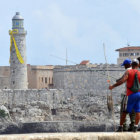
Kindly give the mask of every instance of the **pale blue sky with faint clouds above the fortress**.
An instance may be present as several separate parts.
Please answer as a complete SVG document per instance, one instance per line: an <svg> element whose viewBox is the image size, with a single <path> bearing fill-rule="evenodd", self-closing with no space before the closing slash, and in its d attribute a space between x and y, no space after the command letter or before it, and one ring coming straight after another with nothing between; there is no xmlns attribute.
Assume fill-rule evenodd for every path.
<svg viewBox="0 0 140 140"><path fill-rule="evenodd" d="M0 65L9 65L12 17L27 30L27 64L68 65L82 60L116 64L118 48L140 46L140 0L0 0ZM74 62L74 63L71 63Z"/></svg>

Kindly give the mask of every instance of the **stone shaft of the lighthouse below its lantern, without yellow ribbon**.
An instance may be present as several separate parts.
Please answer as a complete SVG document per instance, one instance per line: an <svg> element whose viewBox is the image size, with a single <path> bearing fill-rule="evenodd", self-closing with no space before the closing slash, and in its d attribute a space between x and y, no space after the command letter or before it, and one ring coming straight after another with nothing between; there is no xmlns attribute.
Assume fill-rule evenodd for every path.
<svg viewBox="0 0 140 140"><path fill-rule="evenodd" d="M14 43L12 42L10 56L10 88L11 89L27 89L27 64L26 64L26 31L20 31L14 34L19 52L24 60L21 64L17 58Z"/></svg>

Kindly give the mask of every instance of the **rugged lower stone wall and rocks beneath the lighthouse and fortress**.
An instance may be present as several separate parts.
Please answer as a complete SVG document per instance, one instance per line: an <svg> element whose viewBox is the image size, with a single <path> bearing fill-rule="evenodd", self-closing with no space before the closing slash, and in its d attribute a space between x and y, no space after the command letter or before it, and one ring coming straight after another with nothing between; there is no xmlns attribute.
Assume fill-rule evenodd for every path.
<svg viewBox="0 0 140 140"><path fill-rule="evenodd" d="M112 93L115 123L107 109L106 96L110 94L107 89L6 89L0 91L0 104L9 110L11 119L18 125L18 129L26 126L27 130L28 126L32 128L30 132L113 131L114 124L119 124L120 116L120 94L117 90ZM24 132L23 129L17 131Z"/></svg>

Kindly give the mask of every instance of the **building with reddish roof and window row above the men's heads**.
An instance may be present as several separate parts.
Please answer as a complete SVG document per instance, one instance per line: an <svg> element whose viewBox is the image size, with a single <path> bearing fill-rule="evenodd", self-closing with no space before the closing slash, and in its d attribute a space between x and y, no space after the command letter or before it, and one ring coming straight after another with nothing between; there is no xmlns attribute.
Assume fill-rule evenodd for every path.
<svg viewBox="0 0 140 140"><path fill-rule="evenodd" d="M117 59L117 64L120 65L126 58L131 60L140 57L140 46L127 46L124 48L117 49L119 52L119 58Z"/></svg>

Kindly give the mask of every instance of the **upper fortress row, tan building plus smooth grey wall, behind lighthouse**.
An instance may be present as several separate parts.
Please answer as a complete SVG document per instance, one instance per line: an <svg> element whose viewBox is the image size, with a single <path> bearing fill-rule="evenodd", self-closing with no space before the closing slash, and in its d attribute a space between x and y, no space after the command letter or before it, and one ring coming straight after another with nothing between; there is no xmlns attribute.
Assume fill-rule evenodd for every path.
<svg viewBox="0 0 140 140"><path fill-rule="evenodd" d="M67 66L35 66L27 65L29 89L94 89L107 81L106 65L85 64ZM124 68L109 65L114 79L122 76ZM106 79L102 79L102 77ZM0 66L0 88L10 88L10 67ZM96 80L97 79L97 80ZM102 80L102 81L99 81ZM104 88L104 85L101 86Z"/></svg>

